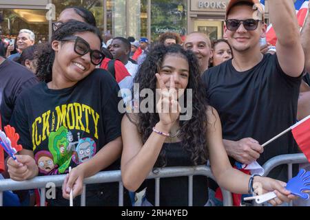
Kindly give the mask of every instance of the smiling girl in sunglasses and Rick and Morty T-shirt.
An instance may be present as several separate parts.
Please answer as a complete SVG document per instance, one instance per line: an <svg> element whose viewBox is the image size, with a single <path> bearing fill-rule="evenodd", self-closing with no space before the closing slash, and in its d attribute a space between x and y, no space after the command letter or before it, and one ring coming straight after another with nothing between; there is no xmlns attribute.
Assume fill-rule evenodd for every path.
<svg viewBox="0 0 310 220"><path fill-rule="evenodd" d="M8 161L11 179L61 175L72 167L51 206L68 206L70 190L73 197L81 194L85 177L119 169L121 98L112 76L95 69L104 58L100 49L101 35L94 26L80 21L61 25L39 56L43 83L21 95L12 116L24 149L18 162ZM117 206L118 184L88 185L86 205Z"/></svg>

